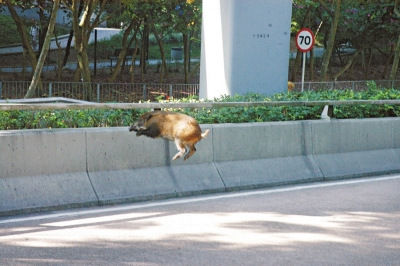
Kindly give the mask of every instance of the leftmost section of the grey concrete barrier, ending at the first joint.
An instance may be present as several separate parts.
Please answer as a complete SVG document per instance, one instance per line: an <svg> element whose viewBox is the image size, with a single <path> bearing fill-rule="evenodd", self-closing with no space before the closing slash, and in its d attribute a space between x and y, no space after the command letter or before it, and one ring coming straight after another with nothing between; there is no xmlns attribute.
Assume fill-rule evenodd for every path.
<svg viewBox="0 0 400 266"><path fill-rule="evenodd" d="M0 213L97 204L83 130L0 131Z"/></svg>

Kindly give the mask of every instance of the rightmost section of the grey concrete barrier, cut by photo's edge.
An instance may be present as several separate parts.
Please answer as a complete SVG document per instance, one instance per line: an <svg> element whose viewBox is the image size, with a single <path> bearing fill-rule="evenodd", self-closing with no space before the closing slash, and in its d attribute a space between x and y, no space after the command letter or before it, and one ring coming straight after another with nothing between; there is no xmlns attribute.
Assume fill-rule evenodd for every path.
<svg viewBox="0 0 400 266"><path fill-rule="evenodd" d="M313 156L325 179L400 170L400 119L311 122Z"/></svg>

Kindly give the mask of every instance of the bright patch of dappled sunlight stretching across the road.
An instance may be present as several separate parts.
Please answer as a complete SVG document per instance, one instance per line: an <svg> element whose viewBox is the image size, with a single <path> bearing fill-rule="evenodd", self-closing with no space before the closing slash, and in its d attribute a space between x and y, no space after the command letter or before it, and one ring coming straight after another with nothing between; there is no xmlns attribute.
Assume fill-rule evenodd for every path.
<svg viewBox="0 0 400 266"><path fill-rule="evenodd" d="M345 212L293 215L275 212L162 213L129 212L101 217L42 222L37 226L0 231L0 246L76 247L102 242L131 243L191 241L220 248L290 247L299 243L357 244L352 234L379 232L376 237L399 240L400 235L379 220L400 220L400 213Z"/></svg>

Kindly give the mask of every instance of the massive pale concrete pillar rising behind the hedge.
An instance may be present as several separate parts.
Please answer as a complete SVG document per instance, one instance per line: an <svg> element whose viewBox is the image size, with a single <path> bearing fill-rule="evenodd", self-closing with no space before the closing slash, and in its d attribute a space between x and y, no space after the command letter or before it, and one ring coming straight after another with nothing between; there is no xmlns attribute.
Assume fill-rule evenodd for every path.
<svg viewBox="0 0 400 266"><path fill-rule="evenodd" d="M200 98L286 91L290 0L203 0Z"/></svg>

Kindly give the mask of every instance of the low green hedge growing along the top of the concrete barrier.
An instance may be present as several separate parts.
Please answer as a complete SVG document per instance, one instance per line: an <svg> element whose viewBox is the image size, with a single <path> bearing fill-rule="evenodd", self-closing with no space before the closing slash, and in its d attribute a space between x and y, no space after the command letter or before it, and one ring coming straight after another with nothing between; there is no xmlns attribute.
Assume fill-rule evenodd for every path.
<svg viewBox="0 0 400 266"><path fill-rule="evenodd" d="M352 90L313 91L304 93L280 93L271 97L248 94L245 96L222 97L219 102L241 101L296 101L296 100L383 100L400 99L396 89L377 88L370 84L366 91ZM180 99L179 102L198 101L194 98ZM200 123L242 123L263 121L289 121L319 119L322 106L316 107L235 107L217 109L174 109L195 117ZM0 129L32 128L79 128L128 126L140 114L149 110L57 110L57 111L0 111ZM338 106L335 118L368 118L400 116L400 106L354 105Z"/></svg>

